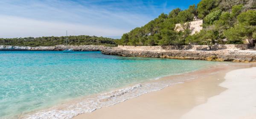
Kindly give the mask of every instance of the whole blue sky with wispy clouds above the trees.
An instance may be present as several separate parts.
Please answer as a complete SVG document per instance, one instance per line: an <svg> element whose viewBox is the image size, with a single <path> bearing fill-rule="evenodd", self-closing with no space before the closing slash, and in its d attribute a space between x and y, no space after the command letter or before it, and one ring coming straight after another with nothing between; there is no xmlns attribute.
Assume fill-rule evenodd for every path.
<svg viewBox="0 0 256 119"><path fill-rule="evenodd" d="M95 35L120 38L161 13L200 0L0 0L0 38Z"/></svg>

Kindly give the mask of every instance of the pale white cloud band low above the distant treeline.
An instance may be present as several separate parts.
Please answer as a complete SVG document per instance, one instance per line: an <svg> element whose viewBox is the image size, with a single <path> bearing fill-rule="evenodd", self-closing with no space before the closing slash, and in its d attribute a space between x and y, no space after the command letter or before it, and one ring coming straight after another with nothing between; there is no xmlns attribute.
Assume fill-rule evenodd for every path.
<svg viewBox="0 0 256 119"><path fill-rule="evenodd" d="M96 35L96 36L120 36L122 29L87 26L61 22L49 22L0 15L0 37L41 37L41 36L64 36L68 35Z"/></svg>

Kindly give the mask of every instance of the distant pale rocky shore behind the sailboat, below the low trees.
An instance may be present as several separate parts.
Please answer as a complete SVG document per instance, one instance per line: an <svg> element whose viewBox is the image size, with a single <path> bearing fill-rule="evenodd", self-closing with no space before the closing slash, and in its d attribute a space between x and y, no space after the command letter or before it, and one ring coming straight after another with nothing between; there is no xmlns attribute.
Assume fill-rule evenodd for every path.
<svg viewBox="0 0 256 119"><path fill-rule="evenodd" d="M81 46L64 46L64 45L57 45L57 46L0 46L0 50L52 50L52 51L61 51L63 49L74 49L74 51L102 51L103 49L109 49L108 46L102 45L81 45Z"/></svg>

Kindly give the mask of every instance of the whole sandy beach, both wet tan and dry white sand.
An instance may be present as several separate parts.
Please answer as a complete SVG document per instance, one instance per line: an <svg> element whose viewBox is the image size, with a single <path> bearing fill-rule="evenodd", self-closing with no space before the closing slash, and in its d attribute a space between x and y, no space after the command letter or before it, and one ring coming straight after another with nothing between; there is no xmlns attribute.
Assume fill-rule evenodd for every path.
<svg viewBox="0 0 256 119"><path fill-rule="evenodd" d="M256 119L256 68L252 67L256 65L195 72L191 74L198 75L195 80L73 119Z"/></svg>

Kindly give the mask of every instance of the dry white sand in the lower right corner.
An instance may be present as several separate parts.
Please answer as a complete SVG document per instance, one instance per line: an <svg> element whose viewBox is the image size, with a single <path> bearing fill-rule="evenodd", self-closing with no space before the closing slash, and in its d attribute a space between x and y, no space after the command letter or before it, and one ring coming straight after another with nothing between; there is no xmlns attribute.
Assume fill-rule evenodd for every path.
<svg viewBox="0 0 256 119"><path fill-rule="evenodd" d="M226 74L220 95L194 107L182 119L256 119L256 67Z"/></svg>

